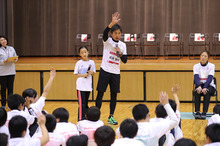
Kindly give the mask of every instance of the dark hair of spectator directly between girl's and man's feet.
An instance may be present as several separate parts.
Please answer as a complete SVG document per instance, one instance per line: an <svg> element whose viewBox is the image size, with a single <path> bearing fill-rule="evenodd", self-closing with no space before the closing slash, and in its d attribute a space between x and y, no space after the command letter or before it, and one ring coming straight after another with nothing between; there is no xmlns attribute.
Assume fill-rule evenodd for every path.
<svg viewBox="0 0 220 146"><path fill-rule="evenodd" d="M96 106L91 106L86 112L86 117L87 120L96 122L100 119L100 114L101 112L99 108Z"/></svg>

